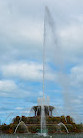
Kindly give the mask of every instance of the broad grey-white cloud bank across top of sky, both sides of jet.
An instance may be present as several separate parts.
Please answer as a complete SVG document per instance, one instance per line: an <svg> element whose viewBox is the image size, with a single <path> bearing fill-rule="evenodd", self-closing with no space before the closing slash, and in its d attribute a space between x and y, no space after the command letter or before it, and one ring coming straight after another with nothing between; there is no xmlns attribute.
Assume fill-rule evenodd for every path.
<svg viewBox="0 0 83 138"><path fill-rule="evenodd" d="M1 61L7 59L11 60L11 57L12 59L18 58L18 56L25 57L25 55L26 57L32 57L33 55L34 58L39 58L41 56L41 45L43 42L43 6L45 3L47 3L52 11L56 23L55 31L59 32L58 41L60 42L60 49L58 51L56 51L56 48L54 49L52 44L50 44L51 48L48 54L50 55L50 58L53 54L60 55L56 56L56 58L57 60L61 60L61 64L61 62L63 62L62 60L76 62L79 60L79 57L77 58L77 56L80 54L83 55L83 18L82 11L80 11L79 8L82 3L81 0L79 3L75 0L67 0L65 2L61 0L53 2L48 0L46 2L42 2L41 0L36 0L35 2L33 0L30 2L26 0L18 0L11 2L8 0L4 2L1 1L0 3L0 33L1 47L3 47L0 47ZM71 12L72 10L70 10L71 8L72 10L74 8L73 13ZM4 53L4 55L2 53Z"/></svg>

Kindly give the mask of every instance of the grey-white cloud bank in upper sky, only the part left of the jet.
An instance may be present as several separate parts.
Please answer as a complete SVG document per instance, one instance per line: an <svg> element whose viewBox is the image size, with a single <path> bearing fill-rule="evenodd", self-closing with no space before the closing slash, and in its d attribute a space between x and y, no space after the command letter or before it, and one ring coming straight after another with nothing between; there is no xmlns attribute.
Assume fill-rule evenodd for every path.
<svg viewBox="0 0 83 138"><path fill-rule="evenodd" d="M33 10L28 14L28 10L31 10L29 5L32 3L26 0L0 1L0 62L2 63L10 62L11 59L17 60L19 57L39 59L42 54L43 22L37 17L33 18ZM33 7L37 9L36 6Z"/></svg>

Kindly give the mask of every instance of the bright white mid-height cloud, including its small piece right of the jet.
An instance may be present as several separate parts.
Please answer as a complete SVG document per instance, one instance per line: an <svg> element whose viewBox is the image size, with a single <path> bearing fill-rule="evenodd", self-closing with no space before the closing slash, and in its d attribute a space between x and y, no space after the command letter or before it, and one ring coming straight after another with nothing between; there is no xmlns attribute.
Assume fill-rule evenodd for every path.
<svg viewBox="0 0 83 138"><path fill-rule="evenodd" d="M16 77L29 81L42 81L43 77L42 64L34 62L18 62L2 66L2 74L4 77ZM49 70L45 74L45 79L54 80L54 75Z"/></svg>

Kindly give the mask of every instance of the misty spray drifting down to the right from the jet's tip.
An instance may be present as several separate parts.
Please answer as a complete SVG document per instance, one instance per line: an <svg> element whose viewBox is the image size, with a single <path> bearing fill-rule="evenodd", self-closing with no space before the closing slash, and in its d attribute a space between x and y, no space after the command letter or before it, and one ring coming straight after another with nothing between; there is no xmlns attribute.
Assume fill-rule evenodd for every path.
<svg viewBox="0 0 83 138"><path fill-rule="evenodd" d="M48 30L47 30L47 25L49 26L48 29L51 29L51 38L52 43L49 44L49 39L48 39ZM74 114L74 108L72 106L71 108L71 82L69 75L65 73L65 59L62 51L62 47L60 43L58 42L58 35L57 31L55 31L55 23L53 21L53 18L51 16L51 13L48 9L48 7L45 8L45 17L44 17L44 48L43 48L43 66L45 66L45 61L46 61L46 53L48 52L48 47L49 47L49 53L48 56L52 58L52 61L54 60L54 63L56 67L58 68L57 71L57 83L62 87L62 93L63 93L63 98L64 98L64 111L67 109L67 112L70 112L71 114ZM47 47L46 47L47 46ZM43 68L43 75L45 74L45 67ZM43 77L44 80L45 76ZM44 92L44 91L43 91ZM69 98L70 97L70 98Z"/></svg>

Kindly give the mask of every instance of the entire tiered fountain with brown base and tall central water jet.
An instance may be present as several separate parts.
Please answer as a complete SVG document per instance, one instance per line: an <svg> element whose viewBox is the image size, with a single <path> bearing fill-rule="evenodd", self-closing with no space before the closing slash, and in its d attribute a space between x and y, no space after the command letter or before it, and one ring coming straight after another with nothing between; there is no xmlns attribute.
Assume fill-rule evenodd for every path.
<svg viewBox="0 0 83 138"><path fill-rule="evenodd" d="M55 107L50 105L49 97L45 97L45 45L46 45L46 16L49 16L52 24L52 17L49 9L45 7L44 17L44 41L43 41L43 96L38 98L38 105L33 106L31 110L34 112L32 117L16 116L9 125L0 126L3 133L36 133L38 135L47 136L48 133L79 133L83 132L83 126L75 124L73 119L68 116L53 116ZM53 29L52 29L53 30Z"/></svg>

